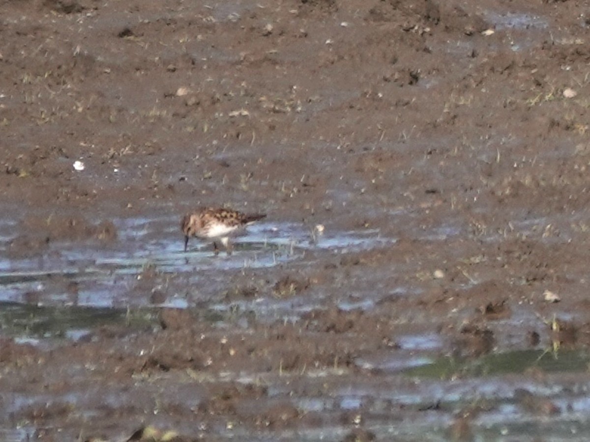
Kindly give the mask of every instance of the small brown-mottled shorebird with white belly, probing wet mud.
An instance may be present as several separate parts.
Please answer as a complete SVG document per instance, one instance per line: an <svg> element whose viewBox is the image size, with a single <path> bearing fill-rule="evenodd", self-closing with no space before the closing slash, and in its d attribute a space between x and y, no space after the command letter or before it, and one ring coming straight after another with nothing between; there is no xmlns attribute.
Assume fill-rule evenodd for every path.
<svg viewBox="0 0 590 442"><path fill-rule="evenodd" d="M188 239L191 236L201 239L212 239L215 255L219 253L217 239L225 246L227 254L231 255L230 235L237 230L252 224L266 215L257 213L246 215L231 209L199 209L182 217L181 229L185 235L185 252L188 248Z"/></svg>

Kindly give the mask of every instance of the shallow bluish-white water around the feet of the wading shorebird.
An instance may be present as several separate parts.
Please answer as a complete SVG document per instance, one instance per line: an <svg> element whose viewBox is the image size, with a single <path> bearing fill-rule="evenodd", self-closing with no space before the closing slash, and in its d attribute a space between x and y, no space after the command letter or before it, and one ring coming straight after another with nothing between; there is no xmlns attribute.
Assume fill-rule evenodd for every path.
<svg viewBox="0 0 590 442"><path fill-rule="evenodd" d="M301 260L308 250L344 253L394 242L381 238L377 230L319 233L302 225L258 223L234 239L231 256L223 252L214 256L211 243L196 239L183 252L175 221L169 217L119 219L112 245L56 242L35 258L0 257L0 302L27 303L28 296L37 298L38 305L149 305L145 296L130 296L129 289L150 268L159 276L185 275L191 280L207 274L209 289L214 290L218 287L211 281L222 281L224 272ZM5 244L12 239L8 233L4 238ZM76 293L68 293L68 286L74 285ZM187 306L182 299L158 305Z"/></svg>

